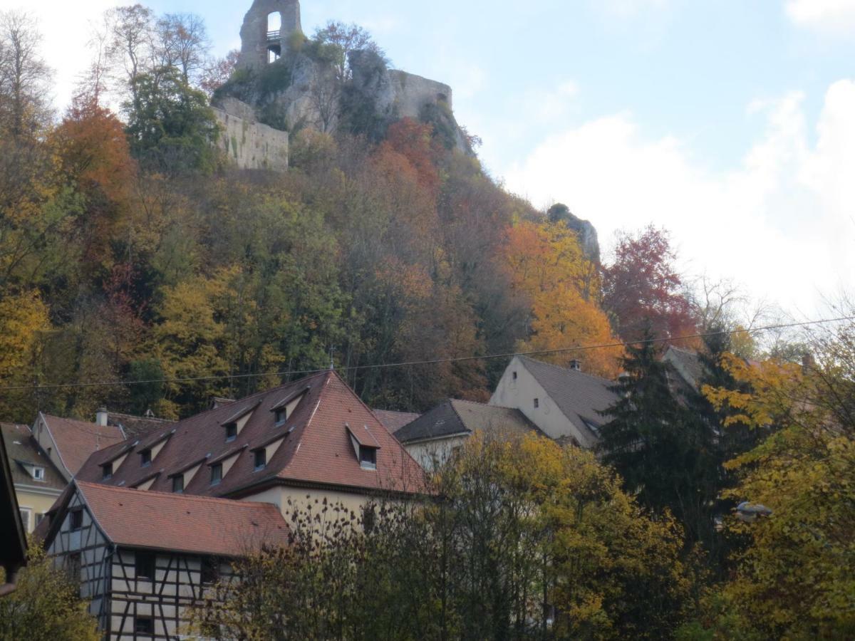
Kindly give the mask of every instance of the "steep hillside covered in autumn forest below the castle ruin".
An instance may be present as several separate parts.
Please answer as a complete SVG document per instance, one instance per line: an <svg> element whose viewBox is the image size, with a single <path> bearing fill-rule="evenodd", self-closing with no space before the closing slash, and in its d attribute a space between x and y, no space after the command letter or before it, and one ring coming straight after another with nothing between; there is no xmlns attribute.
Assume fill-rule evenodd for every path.
<svg viewBox="0 0 855 641"><path fill-rule="evenodd" d="M177 417L330 362L368 403L423 410L486 399L504 362L353 368L610 344L642 318L666 337L698 324L665 232L622 238L604 268L566 208L504 191L430 114L294 127L289 172L232 168L208 101L234 56L209 59L196 16L137 5L104 25L56 114L38 25L3 17L4 417L102 403ZM380 51L334 24L301 46L334 67L354 34ZM610 376L621 354L582 357Z"/></svg>

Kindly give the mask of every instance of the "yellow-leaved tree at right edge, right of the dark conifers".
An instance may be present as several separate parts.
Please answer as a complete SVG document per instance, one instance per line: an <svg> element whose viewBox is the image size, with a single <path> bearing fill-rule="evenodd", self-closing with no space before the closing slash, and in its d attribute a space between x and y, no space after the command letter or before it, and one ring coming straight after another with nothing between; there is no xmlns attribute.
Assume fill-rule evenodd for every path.
<svg viewBox="0 0 855 641"><path fill-rule="evenodd" d="M748 389L706 390L716 407L730 409L726 429L777 429L728 463L740 482L726 496L761 503L771 515L728 519L749 543L697 628L754 638L846 638L855 630L853 344L846 321L814 333L816 360L804 367L731 356L725 367Z"/></svg>

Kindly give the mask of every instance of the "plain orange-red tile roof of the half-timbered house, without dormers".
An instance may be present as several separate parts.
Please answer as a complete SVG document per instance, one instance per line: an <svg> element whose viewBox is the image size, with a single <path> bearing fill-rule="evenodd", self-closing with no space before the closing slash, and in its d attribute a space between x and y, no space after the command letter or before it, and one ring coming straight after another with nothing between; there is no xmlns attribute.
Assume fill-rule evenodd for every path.
<svg viewBox="0 0 855 641"><path fill-rule="evenodd" d="M288 526L269 503L128 490L77 482L91 514L116 545L242 556L288 544Z"/></svg>

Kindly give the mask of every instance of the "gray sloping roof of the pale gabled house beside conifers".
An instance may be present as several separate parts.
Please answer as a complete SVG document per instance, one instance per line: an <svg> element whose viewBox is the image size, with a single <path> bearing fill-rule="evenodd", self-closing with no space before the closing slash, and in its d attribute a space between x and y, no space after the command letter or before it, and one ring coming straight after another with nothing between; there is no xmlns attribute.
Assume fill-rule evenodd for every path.
<svg viewBox="0 0 855 641"><path fill-rule="evenodd" d="M608 422L600 412L609 409L618 400L616 393L610 389L615 383L575 369L535 361L527 356L519 356L519 359L561 413L587 438L588 442L581 445L593 445L598 440L599 427Z"/></svg>

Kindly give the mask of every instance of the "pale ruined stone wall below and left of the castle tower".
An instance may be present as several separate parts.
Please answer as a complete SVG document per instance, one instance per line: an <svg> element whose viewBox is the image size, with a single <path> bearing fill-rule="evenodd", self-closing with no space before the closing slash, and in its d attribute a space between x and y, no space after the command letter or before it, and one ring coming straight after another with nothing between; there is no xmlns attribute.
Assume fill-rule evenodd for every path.
<svg viewBox="0 0 855 641"><path fill-rule="evenodd" d="M224 98L214 109L221 132L217 143L241 169L288 168L288 132L256 121L254 110L235 98Z"/></svg>

